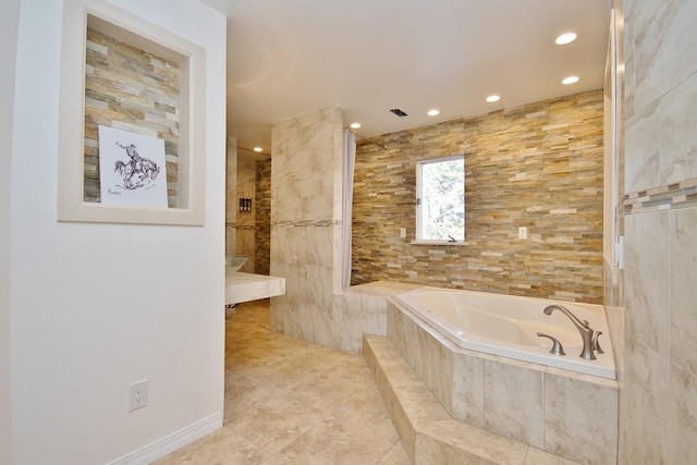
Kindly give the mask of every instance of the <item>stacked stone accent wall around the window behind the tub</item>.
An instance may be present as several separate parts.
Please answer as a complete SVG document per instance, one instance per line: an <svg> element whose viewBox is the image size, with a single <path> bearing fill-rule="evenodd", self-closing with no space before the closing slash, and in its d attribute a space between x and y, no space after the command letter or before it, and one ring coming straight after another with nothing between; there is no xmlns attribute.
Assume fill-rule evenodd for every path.
<svg viewBox="0 0 697 465"><path fill-rule="evenodd" d="M601 303L602 105L594 90L376 137L387 150L360 143L352 284ZM465 155L465 245L412 245L416 162L453 154Z"/></svg>

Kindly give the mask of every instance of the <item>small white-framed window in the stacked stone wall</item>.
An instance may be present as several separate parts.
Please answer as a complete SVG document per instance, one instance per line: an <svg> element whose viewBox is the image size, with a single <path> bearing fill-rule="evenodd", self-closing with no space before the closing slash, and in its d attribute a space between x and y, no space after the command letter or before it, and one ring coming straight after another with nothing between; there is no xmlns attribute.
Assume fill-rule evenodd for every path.
<svg viewBox="0 0 697 465"><path fill-rule="evenodd" d="M416 243L465 240L465 157L416 164Z"/></svg>

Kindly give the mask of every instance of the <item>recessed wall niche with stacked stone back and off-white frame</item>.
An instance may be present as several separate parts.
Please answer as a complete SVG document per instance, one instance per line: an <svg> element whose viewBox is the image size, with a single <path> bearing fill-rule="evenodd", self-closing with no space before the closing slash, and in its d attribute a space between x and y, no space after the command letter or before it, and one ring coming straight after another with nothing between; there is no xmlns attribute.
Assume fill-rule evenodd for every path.
<svg viewBox="0 0 697 465"><path fill-rule="evenodd" d="M96 0L64 2L62 46L58 220L204 224L204 49ZM100 178L115 168L100 168L100 151L107 161L108 147L125 150L119 154L127 155L125 164L140 180L148 172L134 160L152 160L138 158L142 154L134 158L129 140L117 142L120 148L114 149L113 140L102 139L100 147L99 131L125 131L119 134L163 147L157 170L149 172L152 179L162 174L161 204L105 201ZM126 181L125 171L122 175L123 184L135 179Z"/></svg>

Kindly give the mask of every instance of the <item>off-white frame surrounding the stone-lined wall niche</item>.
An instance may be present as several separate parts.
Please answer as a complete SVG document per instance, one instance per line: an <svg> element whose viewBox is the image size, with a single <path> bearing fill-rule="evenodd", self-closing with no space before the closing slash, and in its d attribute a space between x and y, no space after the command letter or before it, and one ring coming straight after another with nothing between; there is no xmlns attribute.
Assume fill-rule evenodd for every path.
<svg viewBox="0 0 697 465"><path fill-rule="evenodd" d="M205 222L205 49L100 0L63 2L58 221L203 225ZM86 199L87 29L175 63L179 69L174 206L108 205ZM157 76L156 76L157 77ZM145 126L147 122L143 122ZM133 124L137 129L138 122Z"/></svg>

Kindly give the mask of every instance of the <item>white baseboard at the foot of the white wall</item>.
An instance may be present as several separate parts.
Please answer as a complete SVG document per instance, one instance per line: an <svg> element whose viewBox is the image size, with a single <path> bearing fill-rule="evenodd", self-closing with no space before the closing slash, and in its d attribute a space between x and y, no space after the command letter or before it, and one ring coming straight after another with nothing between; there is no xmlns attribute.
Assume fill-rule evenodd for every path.
<svg viewBox="0 0 697 465"><path fill-rule="evenodd" d="M213 414L107 465L147 465L222 428L222 415Z"/></svg>

